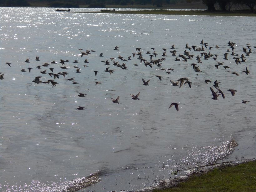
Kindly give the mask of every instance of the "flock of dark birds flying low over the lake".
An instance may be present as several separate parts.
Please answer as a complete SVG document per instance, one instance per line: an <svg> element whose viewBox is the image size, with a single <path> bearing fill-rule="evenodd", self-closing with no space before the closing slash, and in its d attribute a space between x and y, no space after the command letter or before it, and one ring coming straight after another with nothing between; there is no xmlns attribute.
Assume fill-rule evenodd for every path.
<svg viewBox="0 0 256 192"><path fill-rule="evenodd" d="M200 57L199 55L196 56L196 61L197 61L197 63L202 63L201 60L200 60L201 58L203 58L204 60L208 60L208 59L212 58L212 59L214 59L214 61L216 61L218 55L217 55L217 54L214 54L214 55L213 55L213 54L210 53L211 49L214 48L214 47L208 46L208 43L203 42L203 40L201 41L200 44L201 44L202 46L194 46L194 45L193 45L193 46L191 46L191 47L189 47L188 44L186 44L186 46L185 46L185 51L184 51L184 53L183 53L184 55L179 54L178 56L176 56L175 45L172 45L171 48L170 48L170 49L171 49L170 53L172 53L172 54L171 54L172 56L176 57L176 58L175 58L175 61L179 62L179 61L181 61L181 59L183 59L183 60L182 60L183 62L187 62L188 60L192 60L192 58L195 57L194 55L191 55L189 52L187 52L187 49L189 49L190 51L192 51L192 49L193 49L194 52L199 52L199 55L201 55L201 57ZM208 52L208 53L206 52L206 50L204 50L204 48L205 48L205 49L208 49L207 46L208 46L208 48L209 48L209 52ZM249 56L250 56L250 53L252 53L252 52L251 52L251 46L250 46L249 44L247 44L247 47L243 47L243 52L244 52L244 53L243 53L241 56L239 56L239 54L235 54L235 53L234 53L234 49L235 49L235 47L234 47L234 46L235 46L235 43L234 43L234 42L230 42L230 41L229 41L228 46L229 46L230 48L228 48L227 51L224 53L224 58L223 58L223 59L224 59L224 60L228 60L228 55L229 55L228 52L231 52L230 49L232 49L232 52L231 52L230 55L231 55L231 56L234 56L233 59L235 60L235 63L236 63L237 65L238 65L238 64L241 64L241 62L245 63L245 62L246 62L245 56L249 57ZM116 47L114 48L114 50L119 51L118 48L119 48L119 47L116 46ZM215 48L218 49L219 47L216 45ZM254 48L256 48L256 46L255 46ZM155 48L152 47L151 49L154 51L152 54L151 54L151 51L148 51L148 52L145 53L145 54L149 55L149 57L150 57L149 61L150 61L150 62L148 62L147 59L145 59L145 58L142 57L143 55L142 55L142 52L141 52L141 48L139 48L139 47L136 47L136 52L137 52L137 51L138 51L138 52L137 52L137 53L132 53L132 55L133 55L133 57L135 57L135 55L138 55L138 56L139 56L138 59L140 60L140 63L143 63L146 67L147 67L147 66L150 66L150 68L153 68L152 65L156 65L157 67L162 67L162 66L161 66L161 64L162 64L161 62L164 62L164 61L165 61L167 49L163 48L164 52L163 52L162 58L159 58L159 59L156 59L158 53L155 52ZM91 54L91 52L95 52L95 51L93 51L93 50L91 50L91 51L86 50L85 52L83 52L83 49L79 49L79 51L81 52L81 57L83 57L84 55L89 56L89 54ZM104 56L103 56L103 53L100 53L99 57L104 57ZM124 57L121 57L120 55L118 55L117 58L118 58L118 60L121 60L122 64L119 64L119 61L116 62L116 61L115 61L116 58L114 58L114 57L111 57L110 60L111 60L111 62L113 61L113 66L120 67L120 68L123 69L123 70L128 70L127 68L128 68L129 66L126 66L126 63L124 63L124 62L127 62L128 60L131 60L131 57L132 57L132 56L128 57L127 60L126 60ZM240 59L241 59L241 60L240 60ZM109 64L110 61L108 61L108 60L109 60L109 59L107 59L106 61L102 61L102 62L103 62L105 65L108 66L108 65L110 65L110 64ZM40 61L38 56L36 57L36 61ZM25 62L26 62L26 63L30 63L30 62L29 62L29 59L27 59ZM67 70L67 69L68 69L68 68L65 66L66 62L69 62L69 60L62 60L62 59L60 60L60 63L62 64L62 66L60 66L61 69L64 69L64 70ZM73 63L79 63L79 62L78 62L78 60L75 60ZM88 62L87 59L85 59L84 63L89 63L89 62ZM223 63L224 63L224 62L217 62L217 64L215 65L216 69L219 69L220 66L223 66L225 69L229 68L229 66L224 66ZM12 64L9 63L9 62L6 62L6 64L7 64L8 66L11 66L11 65L12 65ZM51 64L57 64L57 62L52 61ZM42 66L40 66L40 65L37 66L36 69L42 69L41 67L48 67L49 65L50 65L49 63L44 63ZM199 66L197 66L197 65L198 65L198 64L196 64L196 63L192 63L192 64L191 64L191 66L193 67L194 71L200 73L201 71L200 71L200 69L199 69ZM138 65L137 65L137 64L134 64L134 66L138 66ZM79 68L78 66L73 66L73 67L77 68L77 69L76 69L76 73L81 73L81 72L80 72L80 68ZM83 65L83 67L88 67L88 66L87 66L87 65ZM109 68L110 68L110 67L107 67L104 72L110 73L110 75L111 75L113 72L115 72L115 70L109 69ZM27 69L28 69L28 71L29 71L29 73L30 73L33 68L28 67ZM58 73L53 73L53 70L55 70L55 69L52 68L52 67L49 67L49 69L50 69L50 71L51 71L51 72L49 72L49 73L46 72L47 70L40 71L40 73L41 73L41 74L48 74L48 75L50 75L51 77L53 77L54 79L56 79L56 77L59 78L59 76L61 76L61 75L64 76L64 77L65 77L66 75L68 75L68 73L67 73L66 71L58 72ZM167 69L161 68L161 70L166 71L167 74L170 74L170 73L171 73L170 71L174 71L174 69L172 69L172 68L167 68ZM22 69L21 71L22 71L22 72L27 72L25 69ZM93 71L93 72L95 73L95 76L97 76L97 73L99 73L99 71ZM228 72L230 72L230 73L232 73L232 74L234 74L234 75L239 76L239 74L238 74L237 72L234 72L234 71L228 71ZM250 71L248 70L247 67L246 67L245 71L242 71L242 72L244 72L246 75L248 75L248 74L250 73ZM40 84L40 83L49 84L49 83L51 83L52 86L56 86L56 85L58 84L55 80L52 80L52 79L49 79L49 80L47 80L47 81L41 81L41 80L40 80L41 77L42 77L42 76L37 76L37 77L35 77L35 80L33 80L32 82L37 83L37 84ZM159 75L158 75L158 76L156 76L156 77L158 77L160 81L162 80L162 79L161 79L162 76L159 76ZM72 81L73 84L78 84L78 82L76 82L76 81L74 80L74 78L75 78L75 77L68 78L67 81ZM4 79L4 73L0 72L0 80L2 80L2 79ZM150 80L151 80L151 79L149 79L148 81L145 81L144 79L142 79L143 85L149 86L149 81L150 81ZM174 81L171 81L171 80L170 80L170 82L172 83L172 86L179 86L179 87L181 87L183 84L188 84L189 87L191 88L192 82L190 82L190 81L188 81L188 80L189 80L189 79L188 79L187 77L183 77L183 78L178 79L177 82L174 82ZM205 82L206 84L208 84L208 83L210 83L211 81L207 79L207 80L205 80L204 82ZM218 99L218 96L220 96L220 95L222 95L223 99L225 98L223 91L221 91L220 88L219 88L219 83L221 83L221 82L217 82L217 80L216 80L216 81L214 82L214 85L213 85L213 87L215 87L215 88L217 89L217 91L214 91L213 88L210 87L210 91L212 92L212 96L213 96L212 99L213 99L213 100L219 100L219 99ZM102 84L102 83L99 82L99 81L96 81L96 84L95 84L95 85L97 85L97 84ZM234 90L234 89L229 89L228 91L231 92L232 96L235 95L236 90ZM85 94L85 93L79 93L78 96L79 96L79 97L85 97L85 95L87 95L87 94ZM133 100L139 100L139 98L138 98L139 95L140 95L140 92L139 92L136 96L134 96L133 94L130 94L130 96L132 97ZM118 104L119 104L119 102L118 102L119 96L118 96L116 99L113 99L113 98L111 98L111 99L112 99L112 102L113 102L113 103L118 103ZM244 104L247 104L247 102L250 102L250 101L244 101L244 100L242 100L242 103L244 103ZM176 110L179 111L179 105L180 105L179 103L173 102L173 103L171 103L169 109L170 109L172 106L175 106ZM84 110L84 109L86 109L86 108L85 108L85 107L82 107L82 106L79 106L79 107L77 108L77 110Z"/></svg>

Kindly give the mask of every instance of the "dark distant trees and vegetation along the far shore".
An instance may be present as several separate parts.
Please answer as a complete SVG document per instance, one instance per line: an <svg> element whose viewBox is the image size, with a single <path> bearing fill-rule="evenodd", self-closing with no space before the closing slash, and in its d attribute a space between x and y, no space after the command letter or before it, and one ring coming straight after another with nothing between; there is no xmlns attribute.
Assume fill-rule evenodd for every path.
<svg viewBox="0 0 256 192"><path fill-rule="evenodd" d="M37 1L38 3L45 3L48 7L93 7L93 8L105 8L106 5L115 6L136 6L136 5L151 5L156 7L170 7L177 3L182 4L185 2L202 2L208 7L208 11L215 11L216 5L219 10L229 11L246 10L249 9L252 12L256 7L256 0L0 0L0 6L14 7L14 6L30 6L30 3Z"/></svg>

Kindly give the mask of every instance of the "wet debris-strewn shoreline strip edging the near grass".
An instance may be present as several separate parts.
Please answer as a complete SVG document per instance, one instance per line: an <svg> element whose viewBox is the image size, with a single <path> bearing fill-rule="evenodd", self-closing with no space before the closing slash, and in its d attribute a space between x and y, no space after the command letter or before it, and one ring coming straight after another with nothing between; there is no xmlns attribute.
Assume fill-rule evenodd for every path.
<svg viewBox="0 0 256 192"><path fill-rule="evenodd" d="M153 186L153 187L143 189L140 191L155 192L155 191L165 191L168 189L177 188L178 185L180 185L181 183L187 182L193 176L200 177L202 175L207 175L214 169L224 169L227 167L235 167L237 165L242 165L242 164L246 164L249 162L256 162L256 160L255 159L246 159L246 160L238 160L238 161L213 163L213 164L194 167L194 168L188 169L188 171L187 171L188 173L185 175L182 175L182 176L176 177L176 178L170 177L170 179L168 179L168 180L161 181L157 186ZM177 171L182 171L182 170L177 170ZM172 174L175 175L175 172Z"/></svg>

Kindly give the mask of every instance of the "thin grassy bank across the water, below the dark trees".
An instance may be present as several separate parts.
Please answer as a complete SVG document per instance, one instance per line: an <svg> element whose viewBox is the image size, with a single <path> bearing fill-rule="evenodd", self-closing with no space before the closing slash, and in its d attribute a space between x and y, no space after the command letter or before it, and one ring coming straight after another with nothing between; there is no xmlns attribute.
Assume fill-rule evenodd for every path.
<svg viewBox="0 0 256 192"><path fill-rule="evenodd" d="M106 12L86 12L86 13L112 13L112 14L154 14L154 15L208 15L208 16L250 16L256 14L249 10L244 11L168 11L166 9L142 10L142 11L106 11Z"/></svg>

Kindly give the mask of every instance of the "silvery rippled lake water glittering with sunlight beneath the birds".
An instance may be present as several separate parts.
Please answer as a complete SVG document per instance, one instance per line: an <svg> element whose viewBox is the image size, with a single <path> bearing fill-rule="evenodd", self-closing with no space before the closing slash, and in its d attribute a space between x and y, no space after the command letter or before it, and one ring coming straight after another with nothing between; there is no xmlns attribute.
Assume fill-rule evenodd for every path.
<svg viewBox="0 0 256 192"><path fill-rule="evenodd" d="M85 186L81 191L132 191L185 173L172 175L177 169L255 158L256 17L3 7L0 12L0 72L4 73L0 80L0 191L60 192ZM169 52L175 44L176 55L184 54L186 43L201 47L202 39L213 47L211 54L218 54L216 61L201 58L202 63L197 63L194 57L176 62ZM229 41L236 43L234 52L239 56L242 47L251 45L245 63L236 65L231 52L228 60L223 59ZM116 46L119 51L114 50ZM147 61L150 56L145 53L153 53L151 47L158 53L156 59L163 58L162 48L166 48L162 67L140 64L138 55L132 56L138 53L136 47ZM96 52L81 57L79 48ZM208 47L204 49L209 52ZM189 52L200 57L202 53ZM132 56L125 62L128 70L110 62L115 72L104 72L108 66L101 61L114 57L122 64L118 55ZM35 61L36 56L40 61ZM30 63L25 62L28 58ZM60 59L70 61L65 63L66 70L60 68ZM85 59L89 63L83 63ZM53 60L58 63L51 64ZM216 69L217 61L230 69ZM43 67L46 62L50 65ZM202 72L195 72L191 63ZM36 69L38 65L42 69ZM73 66L79 66L81 73ZM27 67L33 68L31 73ZM40 73L51 72L49 67L53 73L68 75L56 78L57 86L34 84L36 76L42 76L42 81L53 79ZM174 69L170 75L160 70L169 67ZM249 75L242 72L246 67ZM97 76L93 71L99 71ZM72 77L79 84L67 81ZM191 88L171 86L170 80L182 77L189 78ZM143 85L142 78L151 79L149 86ZM212 82L206 84L207 79ZM225 99L211 99L209 86L215 80L221 82ZM102 84L95 86L96 81ZM228 89L237 92L232 96ZM131 100L130 94L138 92L140 100ZM79 93L87 96L78 97ZM111 98L118 96L119 104L112 103ZM251 102L245 105L242 99ZM178 112L174 106L168 109L172 102L180 104ZM76 110L78 106L86 109Z"/></svg>

